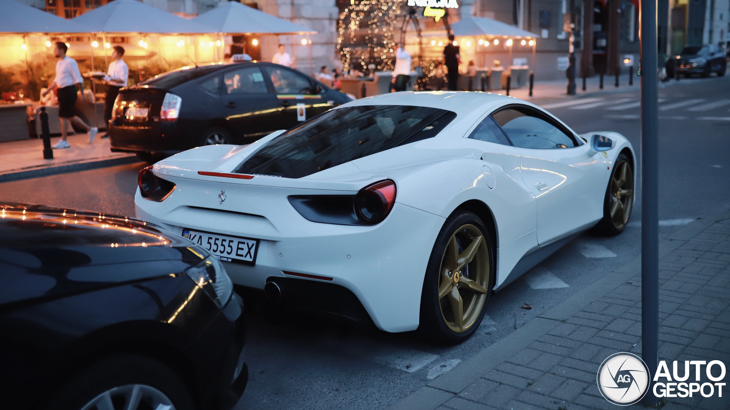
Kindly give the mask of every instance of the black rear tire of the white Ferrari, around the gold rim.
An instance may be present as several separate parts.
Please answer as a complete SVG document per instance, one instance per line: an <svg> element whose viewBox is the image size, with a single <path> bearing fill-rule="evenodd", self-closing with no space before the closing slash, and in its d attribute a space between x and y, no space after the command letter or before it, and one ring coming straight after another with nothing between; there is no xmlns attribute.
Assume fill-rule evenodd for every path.
<svg viewBox="0 0 730 410"><path fill-rule="evenodd" d="M470 324L465 324L465 330L461 332L456 332L452 330L452 328L450 328L449 324L447 324L447 319L445 317L445 314L447 314L447 312L444 312L444 308L442 307L442 299L439 299L439 282L443 280L441 278L441 269L442 263L445 261L445 258L447 258L447 256L445 255L445 252L447 251L447 246L452 236L461 234L459 231L461 231L461 228L464 228L465 225L471 226L480 231L484 239L484 243L480 245L480 252L485 253L483 254L483 256L480 256L480 258L482 258L481 262L479 260L476 261L476 263L478 264L473 269L473 272L475 273L472 276L469 276L469 266L471 266L472 263L475 263L475 260L472 260L471 263L467 263L464 266L464 269L459 271L459 273L462 273L464 271L466 272L464 276L460 276L460 278L464 279L472 277L473 279L477 280L477 276L480 274L479 272L483 272L483 269L486 269L486 271L483 272L483 275L485 275L485 279L483 279L483 282L485 282L485 286L483 287L486 292L479 293L478 295L477 293L472 294L473 298L476 298L477 296L483 298L483 304L481 305L480 311L477 312L478 304L475 304L478 303L477 299L472 299L472 302L469 302L472 304L472 306L474 306L473 309L470 311L472 312L472 317L474 319ZM464 243L464 247L468 247L470 243L471 242ZM459 246L461 247L461 244ZM481 248L482 246L485 246L485 248ZM484 256L488 258L486 263L483 261ZM466 341L466 339L469 339L469 337L475 333L477 328L479 328L479 325L484 317L484 313L486 312L486 308L489 302L489 296L491 295L492 288L494 287L494 272L495 266L492 252L492 239L489 236L487 228L476 214L468 211L457 210L456 212L451 214L450 217L447 218L446 222L441 228L441 231L439 232L439 235L437 236L434 248L433 250L431 250L429 263L426 266L426 276L423 279L423 290L420 299L420 324L418 325L418 331L427 338L442 344L458 344ZM454 273L453 276L456 276L456 273ZM482 277L484 278L484 276ZM457 277L455 282L458 282L459 280L459 277ZM462 293L461 283L458 283L458 285L460 286L458 288L458 292L460 293L460 300L461 295L465 295L466 298L469 298L468 295ZM454 286L456 287L456 285ZM469 290L469 288L464 287L464 292L466 290ZM469 290L469 292L471 292L471 290ZM467 314L467 319L469 319L469 314ZM453 323L451 325L453 325ZM468 325L468 328L466 328L466 325Z"/></svg>

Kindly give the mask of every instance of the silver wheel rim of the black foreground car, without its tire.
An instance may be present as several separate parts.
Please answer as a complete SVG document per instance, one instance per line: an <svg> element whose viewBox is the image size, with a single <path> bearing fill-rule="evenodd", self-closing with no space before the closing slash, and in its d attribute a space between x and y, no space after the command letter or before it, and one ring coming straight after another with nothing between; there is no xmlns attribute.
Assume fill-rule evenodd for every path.
<svg viewBox="0 0 730 410"><path fill-rule="evenodd" d="M128 410L174 410L175 406L164 392L145 384L127 384L114 387L96 396L81 410L115 410L115 403L124 403Z"/></svg>

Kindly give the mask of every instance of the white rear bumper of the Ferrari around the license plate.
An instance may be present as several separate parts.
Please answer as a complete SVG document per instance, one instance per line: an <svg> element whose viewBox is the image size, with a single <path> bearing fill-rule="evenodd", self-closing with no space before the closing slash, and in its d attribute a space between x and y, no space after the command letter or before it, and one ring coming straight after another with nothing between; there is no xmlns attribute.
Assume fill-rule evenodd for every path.
<svg viewBox="0 0 730 410"><path fill-rule="evenodd" d="M223 187L233 198L232 187ZM221 186L212 187L210 194L218 195L220 190ZM198 193L185 198L188 204L183 205L175 195L183 193L154 202L142 198L138 190L137 217L178 235L183 228L192 228L261 239L255 266L223 262L237 285L263 289L271 278L296 277L285 271L325 276L331 279L304 280L347 288L381 330L418 328L423 275L444 218L396 203L378 225L330 225L304 219L288 201L266 204L268 210L261 217L193 209L190 206L210 198ZM248 195L253 199L253 190ZM255 199L268 202L268 198Z"/></svg>

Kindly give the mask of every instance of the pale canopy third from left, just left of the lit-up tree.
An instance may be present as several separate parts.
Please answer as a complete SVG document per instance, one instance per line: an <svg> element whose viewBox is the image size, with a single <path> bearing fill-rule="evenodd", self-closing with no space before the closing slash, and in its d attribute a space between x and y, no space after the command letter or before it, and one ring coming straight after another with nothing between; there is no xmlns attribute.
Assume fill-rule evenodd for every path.
<svg viewBox="0 0 730 410"><path fill-rule="evenodd" d="M119 1L119 0L117 0ZM131 0L134 1L134 0ZM217 33L230 34L314 34L311 28L282 20L238 1L223 1L220 6L193 20Z"/></svg>

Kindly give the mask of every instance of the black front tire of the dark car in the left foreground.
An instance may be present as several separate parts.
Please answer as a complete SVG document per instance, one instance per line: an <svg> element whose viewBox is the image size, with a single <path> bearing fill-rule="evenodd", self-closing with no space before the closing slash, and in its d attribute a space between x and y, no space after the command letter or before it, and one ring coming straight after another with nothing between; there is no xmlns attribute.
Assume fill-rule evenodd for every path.
<svg viewBox="0 0 730 410"><path fill-rule="evenodd" d="M99 398L99 395L110 390L112 401L123 401L124 398L118 390L131 385L151 387L163 393L172 402L175 410L196 409L188 386L180 376L150 357L134 354L107 357L89 365L59 388L44 407L55 410L84 409ZM149 406L152 400L149 395L142 395L138 409L154 409L155 406ZM87 408L96 409L93 406Z"/></svg>

